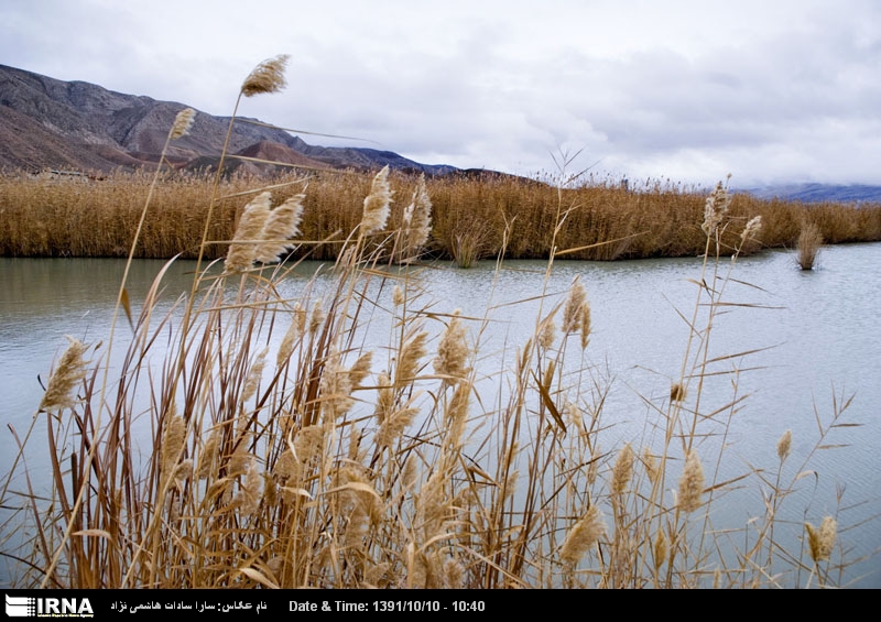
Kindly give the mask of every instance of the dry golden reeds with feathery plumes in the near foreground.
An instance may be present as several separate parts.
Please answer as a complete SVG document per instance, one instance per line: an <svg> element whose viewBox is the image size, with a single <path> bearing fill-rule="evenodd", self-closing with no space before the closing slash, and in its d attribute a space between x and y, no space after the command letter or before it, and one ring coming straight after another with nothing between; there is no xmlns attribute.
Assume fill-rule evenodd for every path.
<svg viewBox="0 0 881 622"><path fill-rule="evenodd" d="M558 296L540 283L533 332L510 345L499 369L482 369L492 294L480 317L434 312L409 260L452 230L454 215L437 209L444 188L460 198L486 186L426 185L432 194L388 170L366 188L356 178L337 178L351 188L333 210L309 208L320 178L229 199L226 241L209 232L200 242L219 261L194 275L181 314L154 315L159 274L130 338L72 340L33 429L13 434L22 450L40 446L52 479L43 490L18 462L4 482L0 501L14 510L6 542L20 545L4 546L18 561L14 587L839 585L850 560L837 517L808 515L786 537L779 515L844 424L846 403L818 415L817 437L800 440L807 449L796 454L785 433L769 443L766 466L718 474L744 399L728 363L749 353L710 356L710 332L736 306L726 286L764 214L737 210L721 184L690 220L679 212L705 259L694 308L682 313L690 336L670 395L645 397L651 434L619 443L605 411L609 384L588 362L586 285L576 280ZM537 212L521 199L515 211L522 195L508 182L482 184L494 183L503 188L491 196L511 203L496 206L508 221L486 252L502 258ZM217 193L217 206L232 194ZM590 212L585 196L559 193L546 206L546 275L555 258L591 250L577 237L566 245L573 216ZM143 231L155 207L142 204ZM335 219L323 231L339 233L316 243L324 233L306 233L313 219ZM295 260L278 260L301 243L333 249L333 284L285 298L279 285ZM124 284L129 310L123 293ZM388 326L381 346L378 324ZM111 369L117 342L122 362ZM730 400L701 402L718 375L730 379ZM784 470L790 461L800 468ZM744 524L719 525L715 503L746 485L764 503Z"/></svg>

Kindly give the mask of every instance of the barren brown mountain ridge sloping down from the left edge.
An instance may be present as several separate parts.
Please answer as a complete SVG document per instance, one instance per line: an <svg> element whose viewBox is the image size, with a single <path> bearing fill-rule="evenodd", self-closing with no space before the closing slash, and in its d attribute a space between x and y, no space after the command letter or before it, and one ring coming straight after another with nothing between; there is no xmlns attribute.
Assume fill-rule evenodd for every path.
<svg viewBox="0 0 881 622"><path fill-rule="evenodd" d="M63 81L0 65L0 171L44 168L108 173L155 167L168 129L184 103L107 90L85 81ZM197 111L188 135L174 141L167 159L182 168L216 166L229 117ZM228 148L229 168L265 173L272 160L313 168L391 168L440 175L448 165L421 164L391 151L309 145L298 137L237 118Z"/></svg>

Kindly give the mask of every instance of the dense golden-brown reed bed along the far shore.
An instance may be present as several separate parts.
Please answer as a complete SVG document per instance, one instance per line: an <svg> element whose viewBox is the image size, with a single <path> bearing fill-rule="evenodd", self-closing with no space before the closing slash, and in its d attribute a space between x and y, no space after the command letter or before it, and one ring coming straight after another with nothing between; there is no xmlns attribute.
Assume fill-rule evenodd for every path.
<svg viewBox="0 0 881 622"><path fill-rule="evenodd" d="M376 172L296 172L259 179L244 173L185 173L165 170L153 189L152 217L144 222L135 257L168 259L198 255L213 195L216 204L209 240L232 237L241 209L240 193L282 184L282 200L298 192L296 179L309 175L303 223L308 240L330 240L309 249L314 259L333 260L342 236L359 221L358 197L363 197ZM101 181L77 177L44 179L25 174L0 176L0 255L6 257L126 257L143 197L153 173L117 173ZM412 193L417 176L392 171L389 183L396 196ZM215 193L215 184L219 183ZM689 188L646 179L624 189L612 179L587 177L578 187L562 190L572 209L557 230L556 205L561 192L553 178L543 182L504 175L450 174L427 177L434 222L426 250L438 259L467 265L504 250L507 259L548 259L550 241L566 249L566 259L616 260L694 257L703 252L700 219L709 189ZM400 222L405 206L392 205ZM737 194L731 217L741 226L760 215L763 228L741 253L769 248L796 248L803 222L815 225L826 243L881 240L881 205L803 204L760 199ZM724 244L737 247L737 236L726 232ZM222 244L202 249L206 258L222 257ZM300 249L305 252L305 248Z"/></svg>

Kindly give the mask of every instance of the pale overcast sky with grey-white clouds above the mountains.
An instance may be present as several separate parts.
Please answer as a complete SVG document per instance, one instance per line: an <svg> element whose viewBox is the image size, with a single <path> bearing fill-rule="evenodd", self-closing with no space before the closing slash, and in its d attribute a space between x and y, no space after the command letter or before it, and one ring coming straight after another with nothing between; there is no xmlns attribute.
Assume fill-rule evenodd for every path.
<svg viewBox="0 0 881 622"><path fill-rule="evenodd" d="M0 64L424 164L881 185L878 0L0 0Z"/></svg>

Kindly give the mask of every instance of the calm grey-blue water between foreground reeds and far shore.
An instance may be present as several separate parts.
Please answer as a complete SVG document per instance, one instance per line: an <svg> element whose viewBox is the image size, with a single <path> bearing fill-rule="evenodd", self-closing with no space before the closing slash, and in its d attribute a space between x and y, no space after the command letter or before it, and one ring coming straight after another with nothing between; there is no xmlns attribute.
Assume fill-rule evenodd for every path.
<svg viewBox="0 0 881 622"><path fill-rule="evenodd" d="M849 446L812 456L805 468L816 477L803 479L792 500L801 512L792 528L800 533L804 521L817 525L824 515L835 513L836 496L844 490L839 541L851 558L870 557L848 570L851 585L873 588L881 587L881 555L875 554L881 550L877 519L881 481L875 476L881 466L877 312L881 287L873 276L879 261L879 244L825 248L817 269L809 272L798 270L790 252L740 259L732 273L736 281L728 282L724 294L726 302L737 305L716 318L710 339L709 356L726 357L716 369L728 373L711 380L704 405L711 408L713 403L721 406L730 400L731 372L738 370L738 394L747 397L729 428L730 451L744 469L775 468L775 444L792 429L793 458L784 469L792 478L801 468L800 459L817 444L818 428L831 423L834 404L852 396L837 423L859 427L835 427L823 444ZM163 263L133 264L129 293L135 313ZM9 471L14 455L7 426L19 435L26 430L43 394L40 381L45 382L66 347L65 336L93 343L106 338L123 268L119 260L0 258L0 417L7 424L0 430L0 472ZM163 281L162 310L189 291L194 268L193 262L172 265ZM281 294L302 295L317 268L304 264L284 281ZM423 273L426 294L421 304L437 314L459 309L464 316L488 318L479 351L486 353L481 364L491 373L499 365L513 364L516 348L535 331L540 305L542 313L550 310L563 299L573 279L579 277L592 319L590 343L579 364L601 370L611 382L603 417L620 439L639 446L656 441L651 433L656 415L646 404L662 402L682 369L700 259L558 261L550 275L546 268L545 262L532 261L505 262L500 272L490 261L470 270L438 265ZM727 268L724 261L721 270ZM327 282L319 277L315 285L320 288ZM548 295L539 299L542 291ZM390 298L391 287L378 296ZM697 313L701 326L706 308ZM121 339L128 327L124 317L119 321L117 338ZM374 321L371 332L380 335L381 341L385 337L382 342L388 343L390 327L380 316ZM477 320L469 321L472 336L479 326ZM570 348L577 349L574 342ZM741 352L751 353L730 357ZM492 382L491 378L486 382ZM41 473L46 474L43 468L29 461L37 481ZM750 490L722 500L719 511L742 515L746 522L760 504L759 492Z"/></svg>

